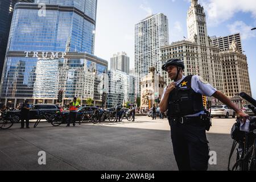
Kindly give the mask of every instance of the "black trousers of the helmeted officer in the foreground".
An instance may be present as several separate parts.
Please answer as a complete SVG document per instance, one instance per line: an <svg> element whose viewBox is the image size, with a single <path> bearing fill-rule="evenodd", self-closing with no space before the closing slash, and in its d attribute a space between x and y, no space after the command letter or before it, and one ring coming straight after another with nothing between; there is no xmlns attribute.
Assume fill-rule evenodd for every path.
<svg viewBox="0 0 256 182"><path fill-rule="evenodd" d="M170 122L175 160L180 171L207 171L209 160L205 126L200 122L189 124Z"/></svg>

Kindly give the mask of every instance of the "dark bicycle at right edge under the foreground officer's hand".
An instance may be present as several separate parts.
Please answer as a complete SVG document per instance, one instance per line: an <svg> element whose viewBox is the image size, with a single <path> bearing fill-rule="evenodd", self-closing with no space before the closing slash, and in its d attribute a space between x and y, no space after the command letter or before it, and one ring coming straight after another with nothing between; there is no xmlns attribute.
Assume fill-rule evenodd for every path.
<svg viewBox="0 0 256 182"><path fill-rule="evenodd" d="M240 96L251 104L249 108L256 114L256 101L246 93ZM229 155L228 170L232 171L256 171L256 117L250 117L249 131L240 130L241 121L237 119L231 132L234 139L232 149ZM238 146L238 147L237 147ZM230 169L230 162L234 151L236 150L236 163Z"/></svg>

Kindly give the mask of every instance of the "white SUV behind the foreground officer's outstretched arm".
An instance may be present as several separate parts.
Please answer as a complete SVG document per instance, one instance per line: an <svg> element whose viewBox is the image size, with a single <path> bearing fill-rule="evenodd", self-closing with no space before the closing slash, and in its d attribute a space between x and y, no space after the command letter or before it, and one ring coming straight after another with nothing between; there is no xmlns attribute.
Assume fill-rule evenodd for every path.
<svg viewBox="0 0 256 182"><path fill-rule="evenodd" d="M211 117L225 117L225 118L229 118L230 116L232 116L233 118L236 117L236 112L232 109L229 109L228 106L226 105L215 105L211 107L212 109L212 113L211 113Z"/></svg>

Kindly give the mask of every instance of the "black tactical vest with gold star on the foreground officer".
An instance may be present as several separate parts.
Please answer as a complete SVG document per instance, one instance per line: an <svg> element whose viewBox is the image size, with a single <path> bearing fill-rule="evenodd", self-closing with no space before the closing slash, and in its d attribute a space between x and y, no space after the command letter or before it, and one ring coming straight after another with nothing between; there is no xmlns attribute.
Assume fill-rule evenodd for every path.
<svg viewBox="0 0 256 182"><path fill-rule="evenodd" d="M204 110L203 96L191 88L192 76L187 76L172 90L168 98L168 116L182 117Z"/></svg>

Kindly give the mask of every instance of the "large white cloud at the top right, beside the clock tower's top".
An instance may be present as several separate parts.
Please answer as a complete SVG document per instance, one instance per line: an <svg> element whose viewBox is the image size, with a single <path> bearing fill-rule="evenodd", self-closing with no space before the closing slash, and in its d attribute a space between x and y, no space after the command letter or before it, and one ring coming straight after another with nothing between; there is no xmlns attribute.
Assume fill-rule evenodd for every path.
<svg viewBox="0 0 256 182"><path fill-rule="evenodd" d="M210 26L217 26L238 12L251 13L256 19L255 0L201 0L199 3L204 6L208 14Z"/></svg>

